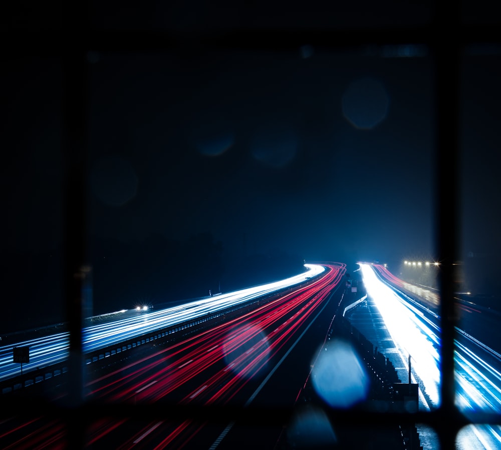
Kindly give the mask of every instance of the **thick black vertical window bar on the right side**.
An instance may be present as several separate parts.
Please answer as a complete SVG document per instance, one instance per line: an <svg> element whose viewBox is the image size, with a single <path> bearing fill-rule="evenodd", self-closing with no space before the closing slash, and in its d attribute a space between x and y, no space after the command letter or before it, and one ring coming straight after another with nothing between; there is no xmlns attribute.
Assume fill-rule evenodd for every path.
<svg viewBox="0 0 501 450"><path fill-rule="evenodd" d="M435 98L436 98L436 224L441 317L441 417L437 429L442 450L453 450L459 421L455 409L454 335L457 313L454 292L458 251L458 108L459 108L459 9L457 3L436 4Z"/></svg>

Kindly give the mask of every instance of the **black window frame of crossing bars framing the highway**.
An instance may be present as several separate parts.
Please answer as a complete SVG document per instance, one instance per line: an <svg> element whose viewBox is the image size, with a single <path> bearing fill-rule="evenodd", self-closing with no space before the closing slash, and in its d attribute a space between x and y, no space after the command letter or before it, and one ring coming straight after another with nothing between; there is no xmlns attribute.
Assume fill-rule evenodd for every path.
<svg viewBox="0 0 501 450"><path fill-rule="evenodd" d="M226 406L176 406L175 409L156 410L146 405L96 405L83 397L82 349L82 287L85 266L86 235L86 149L87 149L87 99L89 51L148 52L170 50L183 45L193 45L192 36L173 36L168 31L111 31L93 30L88 16L78 2L66 7L67 26L55 32L32 36L30 51L45 52L51 48L59 53L60 38L66 40L60 52L64 72L63 142L64 142L64 294L66 315L70 331L70 401L56 405L43 399L7 399L4 416L52 416L63 418L68 425L68 447L77 450L85 447L85 428L90 417L102 416L144 418L203 418L249 424L286 425L293 416L293 409L278 407L273 414L258 407L237 408ZM82 14L83 13L83 14ZM455 406L454 337L458 313L454 307L456 262L460 260L459 235L459 110L460 110L460 61L464 48L475 43L499 43L494 25L464 25L459 20L459 8L450 2L437 2L435 17L426 26L412 29L363 29L342 31L281 31L250 30L225 33L206 32L195 36L197 42L209 48L225 49L297 49L305 42L312 46L346 49L367 45L425 45L432 55L435 68L435 234L441 270L439 288L441 296L441 403L430 413L377 413L370 411L331 410L329 417L336 423L427 424L437 433L441 450L455 447L457 432L461 427L474 423L501 425L496 414L477 414L474 420L465 418ZM10 32L13 37L19 33ZM36 40L35 38L41 38ZM349 44L347 44L349 43ZM24 50L27 50L26 48ZM84 418L84 419L82 419ZM452 418L452 419L451 419ZM87 422L88 421L88 422Z"/></svg>

